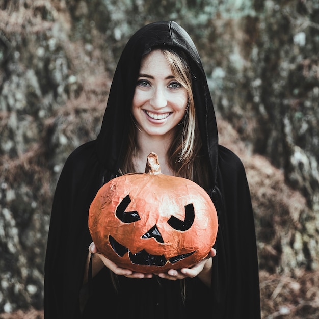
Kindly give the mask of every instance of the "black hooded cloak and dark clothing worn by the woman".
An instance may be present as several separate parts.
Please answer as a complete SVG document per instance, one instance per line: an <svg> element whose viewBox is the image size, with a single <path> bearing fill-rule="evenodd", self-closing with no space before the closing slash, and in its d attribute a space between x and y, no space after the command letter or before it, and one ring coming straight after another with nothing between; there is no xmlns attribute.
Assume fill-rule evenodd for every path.
<svg viewBox="0 0 319 319"><path fill-rule="evenodd" d="M121 167L141 57L157 46L183 52L190 65L204 155L210 163L209 193L219 219L211 289L198 278L188 278L185 302L179 280L118 276L116 291L106 268L92 279L90 289L82 286L92 241L89 206L101 185L116 177ZM81 307L80 295L89 296ZM200 58L189 35L175 22L151 23L131 37L114 74L100 134L77 148L65 163L52 206L44 314L45 319L260 318L256 238L245 169L234 153L218 145L215 112Z"/></svg>

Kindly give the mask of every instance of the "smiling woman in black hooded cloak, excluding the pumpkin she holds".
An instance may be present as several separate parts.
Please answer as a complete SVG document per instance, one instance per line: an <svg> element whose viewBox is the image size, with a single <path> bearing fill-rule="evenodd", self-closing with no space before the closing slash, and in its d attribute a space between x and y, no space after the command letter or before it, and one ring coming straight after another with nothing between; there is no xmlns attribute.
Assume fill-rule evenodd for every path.
<svg viewBox="0 0 319 319"><path fill-rule="evenodd" d="M200 184L219 219L207 258L158 276L122 269L99 254L87 222L98 189L120 174L144 172L151 151L162 173ZM52 207L44 311L46 319L260 318L245 170L235 154L218 145L200 58L175 22L148 24L130 38L114 74L100 134L65 163Z"/></svg>

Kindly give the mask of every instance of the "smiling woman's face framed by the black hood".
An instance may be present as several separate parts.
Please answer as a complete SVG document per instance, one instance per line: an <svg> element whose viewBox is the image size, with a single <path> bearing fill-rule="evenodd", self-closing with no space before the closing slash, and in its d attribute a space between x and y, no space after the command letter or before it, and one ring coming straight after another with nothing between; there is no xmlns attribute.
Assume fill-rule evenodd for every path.
<svg viewBox="0 0 319 319"><path fill-rule="evenodd" d="M132 103L138 128L149 136L170 137L187 103L187 92L176 81L163 52L151 51L141 61Z"/></svg>

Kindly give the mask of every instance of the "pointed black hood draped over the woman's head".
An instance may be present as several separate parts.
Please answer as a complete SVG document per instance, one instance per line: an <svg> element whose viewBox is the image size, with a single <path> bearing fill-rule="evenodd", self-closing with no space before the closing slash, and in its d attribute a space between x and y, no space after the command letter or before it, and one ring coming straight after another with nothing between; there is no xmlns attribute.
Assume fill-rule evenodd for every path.
<svg viewBox="0 0 319 319"><path fill-rule="evenodd" d="M101 130L97 137L99 161L106 169L118 172L127 146L130 108L141 59L152 48L158 46L182 51L188 59L200 134L204 153L210 162L211 186L214 187L218 156L215 111L197 49L188 33L174 21L147 24L127 42L114 73Z"/></svg>

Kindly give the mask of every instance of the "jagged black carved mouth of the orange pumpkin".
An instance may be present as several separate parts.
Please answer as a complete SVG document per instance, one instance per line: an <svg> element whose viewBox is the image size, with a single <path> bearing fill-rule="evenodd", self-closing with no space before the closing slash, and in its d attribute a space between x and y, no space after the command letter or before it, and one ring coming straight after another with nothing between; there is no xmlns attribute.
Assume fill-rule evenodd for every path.
<svg viewBox="0 0 319 319"><path fill-rule="evenodd" d="M138 264L138 265L162 267L167 262L170 262L173 264L173 263L175 263L179 260L182 260L184 258L187 258L188 256L195 253L195 251L192 251L190 253L174 256L174 257L169 258L167 260L164 255L152 255L152 254L149 254L147 251L145 251L145 249L137 252L136 254L132 254L127 247L118 243L111 235L109 236L109 241L110 241L110 244L111 244L113 250L120 257L123 257L126 253L128 253L130 261L132 263Z"/></svg>

